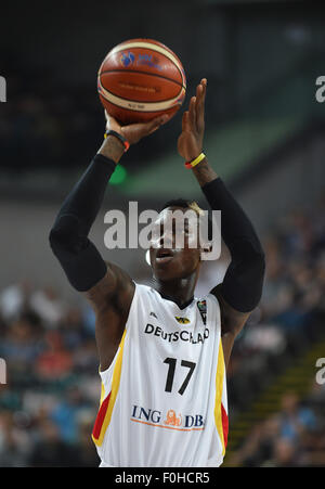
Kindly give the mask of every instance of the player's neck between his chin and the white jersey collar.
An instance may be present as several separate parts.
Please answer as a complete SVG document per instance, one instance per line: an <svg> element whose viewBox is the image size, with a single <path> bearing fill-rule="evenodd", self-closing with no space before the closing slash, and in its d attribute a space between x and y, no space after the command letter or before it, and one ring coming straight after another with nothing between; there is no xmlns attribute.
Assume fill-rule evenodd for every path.
<svg viewBox="0 0 325 489"><path fill-rule="evenodd" d="M188 306L194 297L196 276L162 282L154 279L154 287L161 297L172 300L180 309Z"/></svg>

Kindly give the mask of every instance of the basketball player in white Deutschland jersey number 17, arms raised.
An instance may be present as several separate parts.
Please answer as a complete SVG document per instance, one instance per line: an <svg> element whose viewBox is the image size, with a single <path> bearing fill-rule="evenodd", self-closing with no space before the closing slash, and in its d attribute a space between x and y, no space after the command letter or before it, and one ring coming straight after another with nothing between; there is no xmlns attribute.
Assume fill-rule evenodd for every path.
<svg viewBox="0 0 325 489"><path fill-rule="evenodd" d="M104 467L204 467L223 461L225 371L235 337L259 303L264 256L249 219L203 154L206 90L203 79L183 114L178 151L210 207L221 210L231 254L222 284L194 297L202 243L188 246L190 224L182 248L174 246L174 235L164 235L166 211L197 211L195 203L174 201L159 214L161 235L150 250L155 287L105 262L88 239L126 147L157 130L166 116L121 127L106 115L106 139L51 230L52 249L70 284L96 314L102 397L92 438ZM162 247L164 239L171 247Z"/></svg>

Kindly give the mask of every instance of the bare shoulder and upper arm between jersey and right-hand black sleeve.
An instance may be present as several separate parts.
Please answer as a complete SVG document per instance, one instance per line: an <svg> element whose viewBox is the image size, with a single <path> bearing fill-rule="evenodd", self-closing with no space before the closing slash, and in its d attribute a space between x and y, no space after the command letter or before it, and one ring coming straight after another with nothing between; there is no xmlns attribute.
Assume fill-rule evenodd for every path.
<svg viewBox="0 0 325 489"><path fill-rule="evenodd" d="M230 306L221 294L221 284L212 288L210 294L217 297L221 314L221 339L225 366L227 366L236 336L244 327L250 312L240 312Z"/></svg>

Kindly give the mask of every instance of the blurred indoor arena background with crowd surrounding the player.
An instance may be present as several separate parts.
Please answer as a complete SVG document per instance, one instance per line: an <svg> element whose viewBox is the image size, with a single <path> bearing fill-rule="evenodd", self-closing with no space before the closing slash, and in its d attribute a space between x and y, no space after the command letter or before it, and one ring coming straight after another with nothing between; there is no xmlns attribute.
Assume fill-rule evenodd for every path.
<svg viewBox="0 0 325 489"><path fill-rule="evenodd" d="M266 254L262 300L229 368L223 466L325 466L325 103L316 96L324 13L321 3L295 1L1 4L0 466L99 464L90 436L100 397L94 318L48 236L103 140L98 68L135 37L179 55L186 100L122 158L91 236L107 260L148 283L143 249L105 248L105 211L127 213L129 201L158 209L180 196L205 208L177 139L206 77L204 150ZM197 294L222 280L227 259L223 249L205 263Z"/></svg>

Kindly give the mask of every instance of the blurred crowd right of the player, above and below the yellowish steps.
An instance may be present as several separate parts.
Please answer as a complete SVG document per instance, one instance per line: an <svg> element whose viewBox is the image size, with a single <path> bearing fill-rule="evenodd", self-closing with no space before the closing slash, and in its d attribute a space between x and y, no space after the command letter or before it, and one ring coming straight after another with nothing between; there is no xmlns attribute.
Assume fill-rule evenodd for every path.
<svg viewBox="0 0 325 489"><path fill-rule="evenodd" d="M274 374L325 340L325 200L278 221L265 240L266 278L260 306L235 345L230 397L235 411L247 408ZM325 358L325 350L323 357ZM281 409L255 424L232 456L232 465L325 466L325 376L300 398L295 386ZM230 399L232 408L232 400Z"/></svg>

